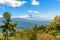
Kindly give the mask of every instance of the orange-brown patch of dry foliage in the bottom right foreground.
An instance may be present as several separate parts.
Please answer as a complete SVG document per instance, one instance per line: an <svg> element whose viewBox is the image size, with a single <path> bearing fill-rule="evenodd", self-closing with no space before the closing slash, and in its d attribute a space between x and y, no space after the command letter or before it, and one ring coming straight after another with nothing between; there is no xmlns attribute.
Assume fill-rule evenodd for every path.
<svg viewBox="0 0 60 40"><path fill-rule="evenodd" d="M42 34L38 33L37 40L54 40L54 36L47 33L42 33Z"/></svg>

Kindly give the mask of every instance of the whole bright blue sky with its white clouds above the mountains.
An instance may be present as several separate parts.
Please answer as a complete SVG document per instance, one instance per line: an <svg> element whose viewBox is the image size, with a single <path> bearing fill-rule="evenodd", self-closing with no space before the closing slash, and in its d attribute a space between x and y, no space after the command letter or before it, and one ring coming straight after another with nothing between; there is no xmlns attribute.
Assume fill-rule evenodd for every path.
<svg viewBox="0 0 60 40"><path fill-rule="evenodd" d="M6 11L12 18L53 20L60 15L60 0L0 0L0 17Z"/></svg>

